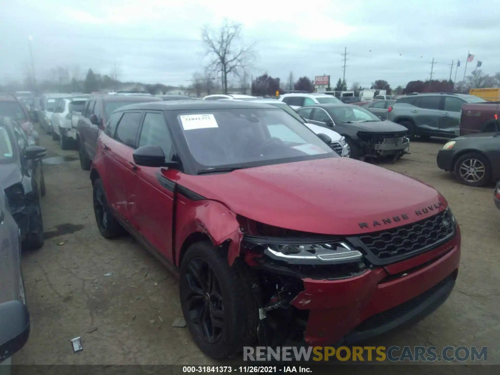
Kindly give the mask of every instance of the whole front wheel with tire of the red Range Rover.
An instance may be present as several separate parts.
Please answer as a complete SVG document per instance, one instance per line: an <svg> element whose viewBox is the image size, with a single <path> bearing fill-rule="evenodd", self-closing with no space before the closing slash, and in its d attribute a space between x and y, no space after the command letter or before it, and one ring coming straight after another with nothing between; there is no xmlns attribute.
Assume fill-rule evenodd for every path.
<svg viewBox="0 0 500 375"><path fill-rule="evenodd" d="M210 241L189 246L180 265L179 296L187 328L203 353L227 358L256 340L258 285L251 270Z"/></svg>

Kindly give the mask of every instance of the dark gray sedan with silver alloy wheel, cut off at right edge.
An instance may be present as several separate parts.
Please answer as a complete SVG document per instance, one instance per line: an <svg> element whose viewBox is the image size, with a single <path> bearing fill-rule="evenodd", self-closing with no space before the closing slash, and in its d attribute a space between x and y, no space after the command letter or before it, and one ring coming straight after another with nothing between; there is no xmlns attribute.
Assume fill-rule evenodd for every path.
<svg viewBox="0 0 500 375"><path fill-rule="evenodd" d="M500 179L500 134L476 133L459 136L437 152L437 166L455 172L460 183L485 186Z"/></svg>

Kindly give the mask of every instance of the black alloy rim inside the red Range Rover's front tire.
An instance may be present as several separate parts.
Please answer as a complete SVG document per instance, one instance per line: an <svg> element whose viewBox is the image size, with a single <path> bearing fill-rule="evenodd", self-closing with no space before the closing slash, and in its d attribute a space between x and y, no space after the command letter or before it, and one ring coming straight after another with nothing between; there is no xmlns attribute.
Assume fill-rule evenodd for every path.
<svg viewBox="0 0 500 375"><path fill-rule="evenodd" d="M184 274L189 285L185 296L189 319L208 343L218 341L224 328L224 303L213 269L201 257L192 258Z"/></svg>

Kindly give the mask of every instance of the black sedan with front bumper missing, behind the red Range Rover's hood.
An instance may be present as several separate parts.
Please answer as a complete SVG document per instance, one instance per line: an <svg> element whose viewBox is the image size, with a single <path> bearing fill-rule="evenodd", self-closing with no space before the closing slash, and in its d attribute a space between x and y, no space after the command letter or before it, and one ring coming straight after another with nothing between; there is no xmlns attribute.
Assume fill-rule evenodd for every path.
<svg viewBox="0 0 500 375"><path fill-rule="evenodd" d="M408 151L406 127L384 121L358 105L314 104L298 108L297 112L307 122L343 135L352 158L390 156L396 159Z"/></svg>

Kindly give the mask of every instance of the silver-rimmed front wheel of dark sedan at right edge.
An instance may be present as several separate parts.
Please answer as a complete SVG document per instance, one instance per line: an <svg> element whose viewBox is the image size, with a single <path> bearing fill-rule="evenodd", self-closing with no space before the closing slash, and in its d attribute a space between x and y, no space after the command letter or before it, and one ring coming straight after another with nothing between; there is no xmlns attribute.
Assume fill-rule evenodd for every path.
<svg viewBox="0 0 500 375"><path fill-rule="evenodd" d="M467 186L480 187L491 182L491 166L486 156L478 152L461 155L454 165L455 177Z"/></svg>

